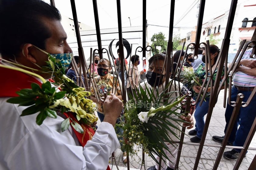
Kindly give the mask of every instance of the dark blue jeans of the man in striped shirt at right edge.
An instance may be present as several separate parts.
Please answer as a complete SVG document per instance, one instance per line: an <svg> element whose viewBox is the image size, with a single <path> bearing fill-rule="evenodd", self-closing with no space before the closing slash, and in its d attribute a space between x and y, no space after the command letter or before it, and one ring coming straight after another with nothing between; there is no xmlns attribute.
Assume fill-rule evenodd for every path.
<svg viewBox="0 0 256 170"><path fill-rule="evenodd" d="M244 94L243 102L246 102L251 95L251 91L239 91L237 88L232 87L231 89L231 99L230 101L237 100L237 94ZM255 107L256 106L256 95L251 100L251 103L247 107L240 107L240 110L237 115L237 119L235 121L234 127L232 128L230 137L228 139L229 142L233 143L233 146L244 146L244 142L247 138L249 131L251 130L251 126L256 116ZM227 104L225 119L226 126L224 133L227 131L227 126L229 124L232 112L234 107ZM238 128L238 125L240 127ZM241 152L241 149L235 149L237 152Z"/></svg>

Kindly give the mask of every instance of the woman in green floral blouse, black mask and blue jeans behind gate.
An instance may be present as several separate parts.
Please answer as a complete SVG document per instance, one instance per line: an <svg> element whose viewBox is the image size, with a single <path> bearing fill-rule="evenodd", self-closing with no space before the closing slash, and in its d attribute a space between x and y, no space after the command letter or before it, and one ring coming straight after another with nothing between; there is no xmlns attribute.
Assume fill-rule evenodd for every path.
<svg viewBox="0 0 256 170"><path fill-rule="evenodd" d="M206 73L208 73L208 76L209 76L209 69L212 69L212 73L213 73L213 81L212 81L212 84L211 83L209 84L209 87L201 87L201 86L198 86L198 85L193 86L193 92L194 92L194 99L195 100L196 100L197 97L200 97L200 96L198 96L198 94L199 94L199 91L200 91L201 88L203 88L203 91L206 90L206 92L207 92L206 95L205 95L205 98L202 99L200 97L198 103L195 105L195 113L194 113L195 121L196 121L195 129L189 131L190 135L196 135L195 137L190 138L190 141L195 142L195 143L199 143L201 141L202 132L203 132L203 128L204 128L204 125L205 125L204 116L207 114L208 107L209 107L210 89L211 89L211 86L214 85L214 82L215 82L215 79L216 79L216 74L217 74L217 71L218 71L218 68L216 68L216 70L213 70L213 68L214 68L214 65L216 64L219 53L220 53L220 49L217 46L210 45L211 66L208 63L208 70L206 70L206 67L205 67L205 57L206 56L205 56L205 50L204 50L203 53L202 53L203 63L200 64L198 66L198 68L195 70L195 75L197 77L199 77L199 80L200 80L199 83L200 84L202 84L205 81ZM222 69L223 70L222 70L222 74L221 74L221 77L222 77L221 80L223 79L223 76L224 76L224 66L223 66ZM206 81L208 81L208 80L209 80L209 78L206 79ZM205 86L206 86L206 84L207 84L207 82L205 83ZM222 88L224 88L224 86ZM202 105L199 106L199 103L200 103L201 100L204 100L204 101L202 102Z"/></svg>

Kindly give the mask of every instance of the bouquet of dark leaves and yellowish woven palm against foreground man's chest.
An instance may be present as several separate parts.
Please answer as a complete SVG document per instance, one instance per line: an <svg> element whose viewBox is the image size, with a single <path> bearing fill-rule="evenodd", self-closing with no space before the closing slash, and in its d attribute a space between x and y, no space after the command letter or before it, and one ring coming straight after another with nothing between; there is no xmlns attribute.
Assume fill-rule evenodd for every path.
<svg viewBox="0 0 256 170"><path fill-rule="evenodd" d="M0 64L1 67L30 74L43 82L41 85L31 83L31 89L21 89L16 92L19 97L12 97L7 100L9 103L19 104L19 106L29 106L22 111L21 116L39 112L36 117L38 125L41 125L46 117L57 118L57 113L63 114L64 112L72 112L77 121L88 126L98 120L94 114L95 104L93 104L92 100L86 98L90 95L90 92L85 91L85 88L79 87L73 80L69 79L65 75L64 67L60 62L57 63L52 56L48 55L47 66L43 66L41 70L32 69L37 73L49 74L51 77L54 77L55 82L52 83L46 81L39 74L22 69L26 68L23 65L7 60L3 61L19 67ZM62 131L65 131L70 124L79 133L85 133L85 128L70 116L62 122Z"/></svg>

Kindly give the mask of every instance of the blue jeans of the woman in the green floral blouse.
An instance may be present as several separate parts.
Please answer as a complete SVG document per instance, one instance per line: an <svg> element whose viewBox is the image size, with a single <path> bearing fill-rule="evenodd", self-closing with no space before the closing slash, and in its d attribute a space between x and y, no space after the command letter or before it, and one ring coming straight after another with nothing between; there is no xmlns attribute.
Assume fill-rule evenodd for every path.
<svg viewBox="0 0 256 170"><path fill-rule="evenodd" d="M200 139L202 138L202 133L203 133L204 124L205 124L204 116L208 112L210 98L209 97L205 98L206 101L203 101L202 105L199 106L199 103L201 100L199 100L198 103L195 105L195 113L194 113L195 131L197 132L196 136Z"/></svg>

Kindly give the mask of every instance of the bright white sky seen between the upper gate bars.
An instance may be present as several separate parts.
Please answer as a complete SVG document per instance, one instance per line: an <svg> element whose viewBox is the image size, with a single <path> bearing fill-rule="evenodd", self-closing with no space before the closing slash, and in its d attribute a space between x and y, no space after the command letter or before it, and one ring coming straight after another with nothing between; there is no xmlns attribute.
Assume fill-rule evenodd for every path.
<svg viewBox="0 0 256 170"><path fill-rule="evenodd" d="M50 3L50 0L45 0ZM245 0L238 0L238 2ZM147 0L148 39L153 34L163 32L169 36L170 0ZM181 32L194 31L197 25L196 14L200 0L175 0L174 28ZM78 21L95 28L92 0L75 0ZM98 0L100 29L117 28L116 0ZM70 0L55 0L61 15L72 17ZM216 18L230 9L231 0L206 0L203 23ZM122 26L142 26L142 0L121 0ZM130 17L130 20L129 18ZM155 26L158 25L158 26ZM174 29L174 34L178 29ZM186 34L182 33L181 38Z"/></svg>

